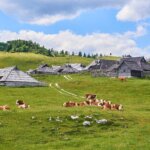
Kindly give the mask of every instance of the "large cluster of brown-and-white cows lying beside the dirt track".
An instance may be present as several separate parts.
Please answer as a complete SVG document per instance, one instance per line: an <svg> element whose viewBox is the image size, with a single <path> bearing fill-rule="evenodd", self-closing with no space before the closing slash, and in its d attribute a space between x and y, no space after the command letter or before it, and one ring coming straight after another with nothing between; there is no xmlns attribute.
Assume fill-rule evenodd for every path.
<svg viewBox="0 0 150 150"><path fill-rule="evenodd" d="M102 109L109 110L123 110L121 104L112 104L111 101L97 99L95 94L86 94L86 100L83 102L68 101L63 104L64 107L76 107L76 106L98 106Z"/></svg>

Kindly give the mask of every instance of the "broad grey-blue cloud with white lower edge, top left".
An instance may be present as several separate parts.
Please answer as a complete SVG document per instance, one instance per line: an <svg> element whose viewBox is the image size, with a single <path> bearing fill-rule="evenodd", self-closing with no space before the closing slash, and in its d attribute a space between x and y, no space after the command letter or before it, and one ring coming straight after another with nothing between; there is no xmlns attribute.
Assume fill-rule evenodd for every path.
<svg viewBox="0 0 150 150"><path fill-rule="evenodd" d="M82 11L113 7L120 8L128 0L0 0L0 10L19 21L48 25L72 19Z"/></svg>

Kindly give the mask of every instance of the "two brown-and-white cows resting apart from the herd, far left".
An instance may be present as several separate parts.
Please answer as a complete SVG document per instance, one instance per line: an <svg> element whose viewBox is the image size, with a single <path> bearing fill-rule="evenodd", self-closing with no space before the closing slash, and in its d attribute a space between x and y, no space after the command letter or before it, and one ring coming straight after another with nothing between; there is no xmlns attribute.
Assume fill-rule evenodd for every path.
<svg viewBox="0 0 150 150"><path fill-rule="evenodd" d="M30 108L30 105L26 104L23 100L16 100L16 105L18 108L27 109ZM2 105L0 106L0 110L10 110L10 107L8 105Z"/></svg>

